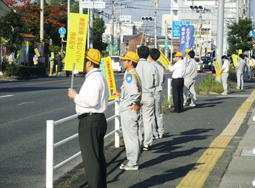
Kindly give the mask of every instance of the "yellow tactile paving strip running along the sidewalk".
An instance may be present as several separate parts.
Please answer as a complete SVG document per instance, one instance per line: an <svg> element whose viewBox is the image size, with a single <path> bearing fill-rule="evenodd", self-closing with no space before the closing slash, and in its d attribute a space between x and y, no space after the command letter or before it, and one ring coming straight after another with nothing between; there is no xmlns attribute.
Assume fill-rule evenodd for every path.
<svg viewBox="0 0 255 188"><path fill-rule="evenodd" d="M242 106L236 111L236 114L222 131L222 133L213 140L209 146L211 148L207 149L203 153L192 170L189 171L189 173L182 179L176 188L203 187L207 177L210 175L210 172L213 170L217 161L224 153L225 148L228 146L228 143L241 127L243 120L254 100L255 90L253 90Z"/></svg>

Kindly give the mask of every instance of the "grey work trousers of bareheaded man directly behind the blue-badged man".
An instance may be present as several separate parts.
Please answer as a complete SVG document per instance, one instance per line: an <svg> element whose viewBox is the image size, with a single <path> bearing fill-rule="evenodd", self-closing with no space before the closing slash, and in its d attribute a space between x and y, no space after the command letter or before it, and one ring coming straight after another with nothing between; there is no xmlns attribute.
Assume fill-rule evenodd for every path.
<svg viewBox="0 0 255 188"><path fill-rule="evenodd" d="M154 97L142 94L141 117L139 119L139 139L144 146L151 146L153 141L152 127L155 124ZM144 134L144 139L143 135Z"/></svg>

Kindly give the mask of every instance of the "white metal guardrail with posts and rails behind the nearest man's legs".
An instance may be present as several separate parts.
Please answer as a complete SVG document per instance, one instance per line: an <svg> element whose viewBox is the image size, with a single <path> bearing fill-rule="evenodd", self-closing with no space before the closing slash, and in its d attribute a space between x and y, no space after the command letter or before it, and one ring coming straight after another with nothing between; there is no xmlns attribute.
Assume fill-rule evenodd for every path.
<svg viewBox="0 0 255 188"><path fill-rule="evenodd" d="M106 120L107 122L115 120L115 129L112 132L105 135L105 138L115 133L115 147L118 148L120 146L120 121L118 111L119 100L115 99L114 101L109 102L107 106L113 104L115 104L115 114L107 118ZM67 164L68 162L70 162L71 160L73 160L74 158L78 157L81 154L81 152L78 152L54 166L54 148L57 148L58 146L61 146L78 137L78 133L76 133L54 144L54 127L55 125L65 123L76 118L77 115L75 114L57 121L54 120L46 121L46 188L53 188L54 170L62 167L63 165Z"/></svg>

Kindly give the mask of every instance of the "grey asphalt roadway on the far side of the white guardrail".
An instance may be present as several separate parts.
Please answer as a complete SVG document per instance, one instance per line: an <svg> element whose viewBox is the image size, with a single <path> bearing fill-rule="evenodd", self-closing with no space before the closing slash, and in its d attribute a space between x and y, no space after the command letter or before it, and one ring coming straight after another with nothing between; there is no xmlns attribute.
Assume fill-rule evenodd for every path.
<svg viewBox="0 0 255 188"><path fill-rule="evenodd" d="M208 74L199 74L196 85ZM166 79L171 74L166 73ZM67 97L71 78L48 77L24 81L0 81L0 187L28 188L45 186L46 120L59 120L75 114L75 105ZM117 90L123 73L115 74ZM79 91L84 77L75 77ZM167 94L167 81L164 83ZM106 116L113 115L109 107ZM107 132L113 130L108 123ZM77 133L78 120L56 126L58 142ZM109 143L111 140L107 140ZM54 165L79 151L77 139L55 150Z"/></svg>

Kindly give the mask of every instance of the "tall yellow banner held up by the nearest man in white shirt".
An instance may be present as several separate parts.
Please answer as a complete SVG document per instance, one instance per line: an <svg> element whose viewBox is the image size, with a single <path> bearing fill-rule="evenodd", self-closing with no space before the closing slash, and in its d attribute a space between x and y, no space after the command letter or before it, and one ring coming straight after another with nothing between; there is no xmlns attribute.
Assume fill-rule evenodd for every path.
<svg viewBox="0 0 255 188"><path fill-rule="evenodd" d="M88 15L70 13L69 20L65 70L73 70L75 63L75 70L83 72Z"/></svg>

